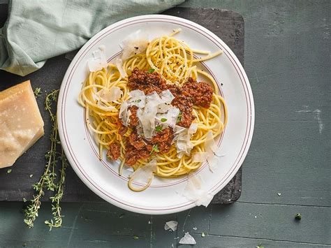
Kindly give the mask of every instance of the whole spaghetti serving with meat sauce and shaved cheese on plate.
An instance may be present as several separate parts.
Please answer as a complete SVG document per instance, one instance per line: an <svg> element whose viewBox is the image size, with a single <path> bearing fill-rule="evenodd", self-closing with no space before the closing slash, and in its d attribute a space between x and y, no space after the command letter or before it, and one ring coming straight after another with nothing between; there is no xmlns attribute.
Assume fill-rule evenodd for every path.
<svg viewBox="0 0 331 248"><path fill-rule="evenodd" d="M120 175L124 166L133 167L133 191L147 189L154 175L186 175L205 161L210 170L217 166L214 138L226 126L227 108L214 78L199 64L222 51L192 50L174 37L177 32L150 42L134 34L121 44L115 64L102 69L105 57L94 56L92 64L99 66L89 67L79 95L100 159L107 149L108 159L121 161Z"/></svg>

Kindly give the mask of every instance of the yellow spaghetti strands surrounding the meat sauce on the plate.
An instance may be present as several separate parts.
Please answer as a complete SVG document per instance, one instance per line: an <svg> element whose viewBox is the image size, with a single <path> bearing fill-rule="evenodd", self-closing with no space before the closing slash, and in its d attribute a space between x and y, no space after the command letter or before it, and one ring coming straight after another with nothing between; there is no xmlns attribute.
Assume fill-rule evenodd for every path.
<svg viewBox="0 0 331 248"><path fill-rule="evenodd" d="M151 156L138 158L132 166L134 170L138 170L154 159L156 168L152 171L152 176L149 175L148 182L144 187L133 187L133 179L131 177L128 187L133 191L147 189L152 182L154 174L159 177L178 177L200 168L205 159L194 159L193 155L206 154L207 147L205 147L205 143L208 135L210 136L210 133L212 133L212 139L214 139L222 133L226 126L228 110L223 97L219 94L219 88L211 75L197 67L200 61L212 59L221 54L222 51L209 54L206 51L192 50L189 48L189 45L174 37L178 31L174 31L169 36L154 38L154 40L148 43L144 52L132 54L120 66L118 64L108 64L107 68L89 73L79 95L79 102L86 111L86 124L95 133L100 159L103 159L103 149L110 149L115 144L119 145L117 155L114 152L116 150L115 146L110 149L110 154L112 154L110 157L113 159L118 157L121 161L119 167L119 174L121 175L127 160L126 152L130 149L128 148L131 142L129 137L132 137L133 133L138 132L136 131L138 127L135 128L128 123L125 124L123 119L119 118L119 112L122 111L121 107L123 108L122 105L130 101L132 97L130 95L132 89L128 85L131 84L130 78L133 78L133 73L139 71L140 73L145 73L143 74L145 78L149 76L157 78L157 75L160 75L161 80L165 82L169 89L173 86L176 89L180 89L184 94L191 90L190 88L185 88L187 82L192 82L193 86L199 86L200 83L196 82L199 75L211 82L213 89L211 101L205 104L205 108L201 104L194 104L191 108L191 119L196 131L189 136L191 145L189 154L184 153L179 156L178 147L176 147L175 143L172 143L164 153L158 152L158 149L155 149L155 145L153 145ZM197 53L207 55L202 58L195 58L194 54ZM173 93L172 88L170 92ZM174 105L175 100L172 101L172 105ZM138 107L134 108L137 109ZM131 107L131 110L137 111L136 109ZM179 115L184 116L184 114L184 112L180 111ZM182 122L178 123L177 121L178 125L180 123ZM191 126L185 126L186 129L183 127L181 130L189 131ZM172 129L171 132L176 136L175 127L172 126ZM154 130L155 133L156 131ZM152 146L151 142L148 139L144 140L144 143L150 144L150 146Z"/></svg>

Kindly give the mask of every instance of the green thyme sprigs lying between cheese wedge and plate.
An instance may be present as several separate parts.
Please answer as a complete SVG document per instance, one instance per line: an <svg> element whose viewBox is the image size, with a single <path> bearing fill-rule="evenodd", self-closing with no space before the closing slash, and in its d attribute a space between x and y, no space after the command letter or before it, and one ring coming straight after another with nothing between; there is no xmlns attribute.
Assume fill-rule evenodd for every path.
<svg viewBox="0 0 331 248"><path fill-rule="evenodd" d="M45 195L45 190L54 192L54 196L50 197L52 202L52 219L46 220L45 224L50 227L50 231L53 227L60 227L62 224L61 215L61 198L64 194L64 182L66 178L66 166L68 162L66 160L66 156L64 155L64 151L61 147L61 143L59 141L59 133L57 131L57 116L55 114L56 111L53 111L52 107L54 103L57 102L57 96L59 95L59 90L52 90L50 94L47 94L45 99L45 110L49 113L50 119L52 122L52 131L50 133L50 150L46 152L45 159L47 161L45 170L41 179L33 184L32 187L36 194L34 198L31 200L31 204L24 210L25 219L24 223L29 226L29 228L34 227L34 221L38 217L38 211L41 208L41 198ZM61 152L58 152L58 151ZM61 161L61 169L59 170L59 179L57 173L57 164Z"/></svg>

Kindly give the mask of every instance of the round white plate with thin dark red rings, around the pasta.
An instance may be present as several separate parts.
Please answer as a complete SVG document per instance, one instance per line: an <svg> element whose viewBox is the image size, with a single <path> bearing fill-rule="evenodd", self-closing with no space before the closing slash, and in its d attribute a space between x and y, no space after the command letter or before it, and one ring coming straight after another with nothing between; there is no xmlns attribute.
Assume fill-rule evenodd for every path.
<svg viewBox="0 0 331 248"><path fill-rule="evenodd" d="M152 186L142 192L128 189L127 175L118 175L118 163L100 161L96 143L84 124L84 110L78 104L82 82L89 71L87 61L91 53L105 46L108 61L121 52L119 43L138 29L148 31L150 37L170 34L181 28L176 35L191 48L223 50L223 54L204 63L214 76L228 105L228 125L219 145L223 154L221 164L214 173L202 166L196 173L205 179L205 187L216 194L237 173L251 143L254 126L254 105L251 87L244 68L235 54L219 37L199 24L169 15L142 15L110 25L96 34L78 52L71 62L61 85L58 102L58 124L61 143L75 173L94 193L109 203L143 214L169 214L194 207L195 204L182 196L187 177L160 179L154 177ZM221 85L223 83L223 85Z"/></svg>

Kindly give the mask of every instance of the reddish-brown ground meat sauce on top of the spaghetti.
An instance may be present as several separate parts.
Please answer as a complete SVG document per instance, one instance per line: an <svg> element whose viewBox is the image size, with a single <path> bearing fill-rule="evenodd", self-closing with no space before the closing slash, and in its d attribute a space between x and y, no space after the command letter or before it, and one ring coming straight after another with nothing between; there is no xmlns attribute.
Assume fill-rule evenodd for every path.
<svg viewBox="0 0 331 248"><path fill-rule="evenodd" d="M183 87L168 85L159 73L148 73L138 68L134 68L128 77L128 87L131 90L140 89L145 94L152 94L153 92L160 94L163 90L169 89L172 95L175 96L171 105L181 111L177 125L186 128L189 128L195 118L192 114L193 105L209 108L213 96L213 89L207 82L196 82L193 78L189 78ZM137 117L138 108L132 106L130 110L130 126L133 128L133 131L128 136L125 163L128 166L133 166L138 159L147 159L154 152L169 152L174 138L172 129L170 127L163 129L160 132L156 132L152 140L145 140L135 130L135 126L138 126L139 123Z"/></svg>

